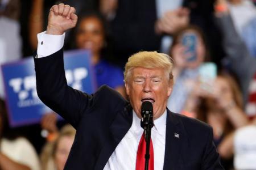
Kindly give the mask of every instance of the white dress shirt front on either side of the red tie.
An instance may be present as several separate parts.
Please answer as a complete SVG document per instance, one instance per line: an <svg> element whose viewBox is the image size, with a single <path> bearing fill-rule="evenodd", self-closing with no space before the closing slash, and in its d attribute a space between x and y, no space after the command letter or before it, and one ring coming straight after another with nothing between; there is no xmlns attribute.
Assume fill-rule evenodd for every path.
<svg viewBox="0 0 256 170"><path fill-rule="evenodd" d="M166 116L167 112L154 120L154 126L151 130L151 139L154 149L154 169L163 169L164 150L166 144ZM125 137L118 144L115 151L110 156L104 170L130 170L135 169L137 150L141 140L143 129L141 128L141 119L133 111L133 124L127 131Z"/></svg>

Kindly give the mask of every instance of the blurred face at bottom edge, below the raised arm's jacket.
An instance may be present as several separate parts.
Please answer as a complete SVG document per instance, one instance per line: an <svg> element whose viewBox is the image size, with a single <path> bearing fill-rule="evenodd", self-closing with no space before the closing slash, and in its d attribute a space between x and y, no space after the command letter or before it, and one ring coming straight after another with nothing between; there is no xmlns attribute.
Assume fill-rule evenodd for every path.
<svg viewBox="0 0 256 170"><path fill-rule="evenodd" d="M67 162L68 154L71 150L74 137L63 136L57 143L56 153L55 153L55 163L57 165L57 170L63 170L64 165Z"/></svg>

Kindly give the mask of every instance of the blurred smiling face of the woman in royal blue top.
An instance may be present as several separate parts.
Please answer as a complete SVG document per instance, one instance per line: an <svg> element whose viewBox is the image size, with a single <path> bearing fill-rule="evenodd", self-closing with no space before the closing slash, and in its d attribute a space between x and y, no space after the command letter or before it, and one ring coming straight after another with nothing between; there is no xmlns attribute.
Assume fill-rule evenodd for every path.
<svg viewBox="0 0 256 170"><path fill-rule="evenodd" d="M89 49L93 55L100 54L104 39L104 28L100 19L89 16L81 20L76 35L77 48Z"/></svg>

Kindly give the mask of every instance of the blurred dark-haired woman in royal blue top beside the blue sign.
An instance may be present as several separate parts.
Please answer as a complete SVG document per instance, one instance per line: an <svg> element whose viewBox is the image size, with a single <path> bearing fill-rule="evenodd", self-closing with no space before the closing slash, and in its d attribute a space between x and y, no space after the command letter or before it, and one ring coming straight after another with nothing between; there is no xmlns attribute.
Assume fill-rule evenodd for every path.
<svg viewBox="0 0 256 170"><path fill-rule="evenodd" d="M98 87L106 84L126 96L122 70L104 59L108 55L108 32L104 18L97 13L82 15L77 25L76 48L90 50Z"/></svg>

